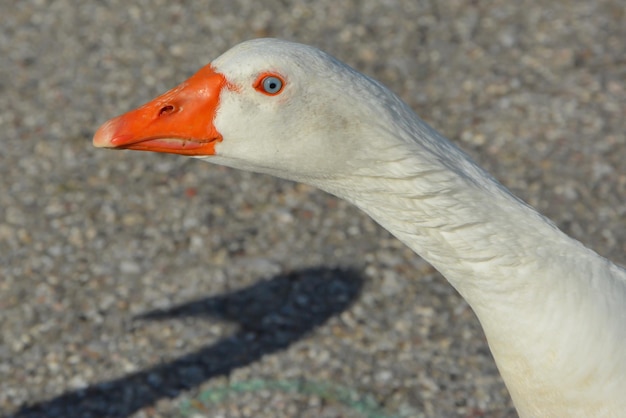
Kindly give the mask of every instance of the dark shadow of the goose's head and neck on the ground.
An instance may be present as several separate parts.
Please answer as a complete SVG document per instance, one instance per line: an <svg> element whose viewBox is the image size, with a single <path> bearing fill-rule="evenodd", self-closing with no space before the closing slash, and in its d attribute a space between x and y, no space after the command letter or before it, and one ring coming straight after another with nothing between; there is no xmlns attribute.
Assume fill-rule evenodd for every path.
<svg viewBox="0 0 626 418"><path fill-rule="evenodd" d="M238 330L195 352L126 376L25 405L11 418L119 418L289 347L358 297L352 269L312 268L282 274L232 293L140 315L142 320L220 319Z"/></svg>

